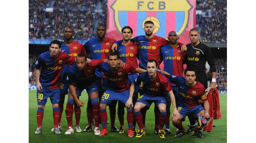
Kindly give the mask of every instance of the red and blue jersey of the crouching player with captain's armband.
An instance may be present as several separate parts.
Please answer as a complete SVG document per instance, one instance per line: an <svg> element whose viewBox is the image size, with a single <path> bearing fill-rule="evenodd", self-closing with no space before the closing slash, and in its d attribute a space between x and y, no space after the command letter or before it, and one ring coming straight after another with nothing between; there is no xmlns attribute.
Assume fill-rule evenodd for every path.
<svg viewBox="0 0 256 143"><path fill-rule="evenodd" d="M191 109L200 105L198 100L207 100L204 87L201 83L196 82L196 84L190 88L186 85L186 79L184 77L170 75L169 79L172 83L179 86L179 106Z"/></svg>

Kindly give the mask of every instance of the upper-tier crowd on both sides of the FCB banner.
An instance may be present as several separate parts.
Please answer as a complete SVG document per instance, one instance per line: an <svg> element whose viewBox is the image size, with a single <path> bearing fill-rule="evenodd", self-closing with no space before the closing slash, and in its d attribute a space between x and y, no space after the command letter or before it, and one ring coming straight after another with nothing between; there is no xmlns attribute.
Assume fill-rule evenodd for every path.
<svg viewBox="0 0 256 143"><path fill-rule="evenodd" d="M49 20L42 23L45 11L39 9L47 7L49 0L29 1L29 39L61 38L63 29L72 25L75 39L87 40L95 36L95 22L106 24L107 0L56 0L54 7L91 7L97 8L98 3L102 13L93 10L82 11L76 9L54 9L49 14ZM196 27L201 34L202 42L227 43L227 1L226 0L197 0L196 10L206 12L205 15L196 15ZM65 20L65 21L64 21ZM42 24L41 24L42 23Z"/></svg>

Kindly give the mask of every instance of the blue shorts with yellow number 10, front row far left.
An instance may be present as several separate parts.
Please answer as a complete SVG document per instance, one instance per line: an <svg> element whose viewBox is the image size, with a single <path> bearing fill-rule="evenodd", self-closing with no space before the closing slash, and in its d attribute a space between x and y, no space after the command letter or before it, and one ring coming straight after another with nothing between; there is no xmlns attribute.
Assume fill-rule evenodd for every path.
<svg viewBox="0 0 256 143"><path fill-rule="evenodd" d="M61 89L41 89L40 92L38 89L36 91L37 104L45 105L47 98L50 97L52 104L58 104L61 100Z"/></svg>

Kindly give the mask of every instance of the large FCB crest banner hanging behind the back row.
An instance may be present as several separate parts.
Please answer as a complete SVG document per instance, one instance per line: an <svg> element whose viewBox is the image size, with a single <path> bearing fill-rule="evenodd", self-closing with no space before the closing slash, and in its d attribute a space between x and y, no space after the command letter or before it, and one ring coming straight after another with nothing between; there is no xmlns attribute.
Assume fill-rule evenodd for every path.
<svg viewBox="0 0 256 143"><path fill-rule="evenodd" d="M179 42L188 44L189 31L195 28L196 0L108 0L107 36L121 40L121 29L130 26L132 37L145 35L145 21L155 25L154 35L167 39L176 31Z"/></svg>

